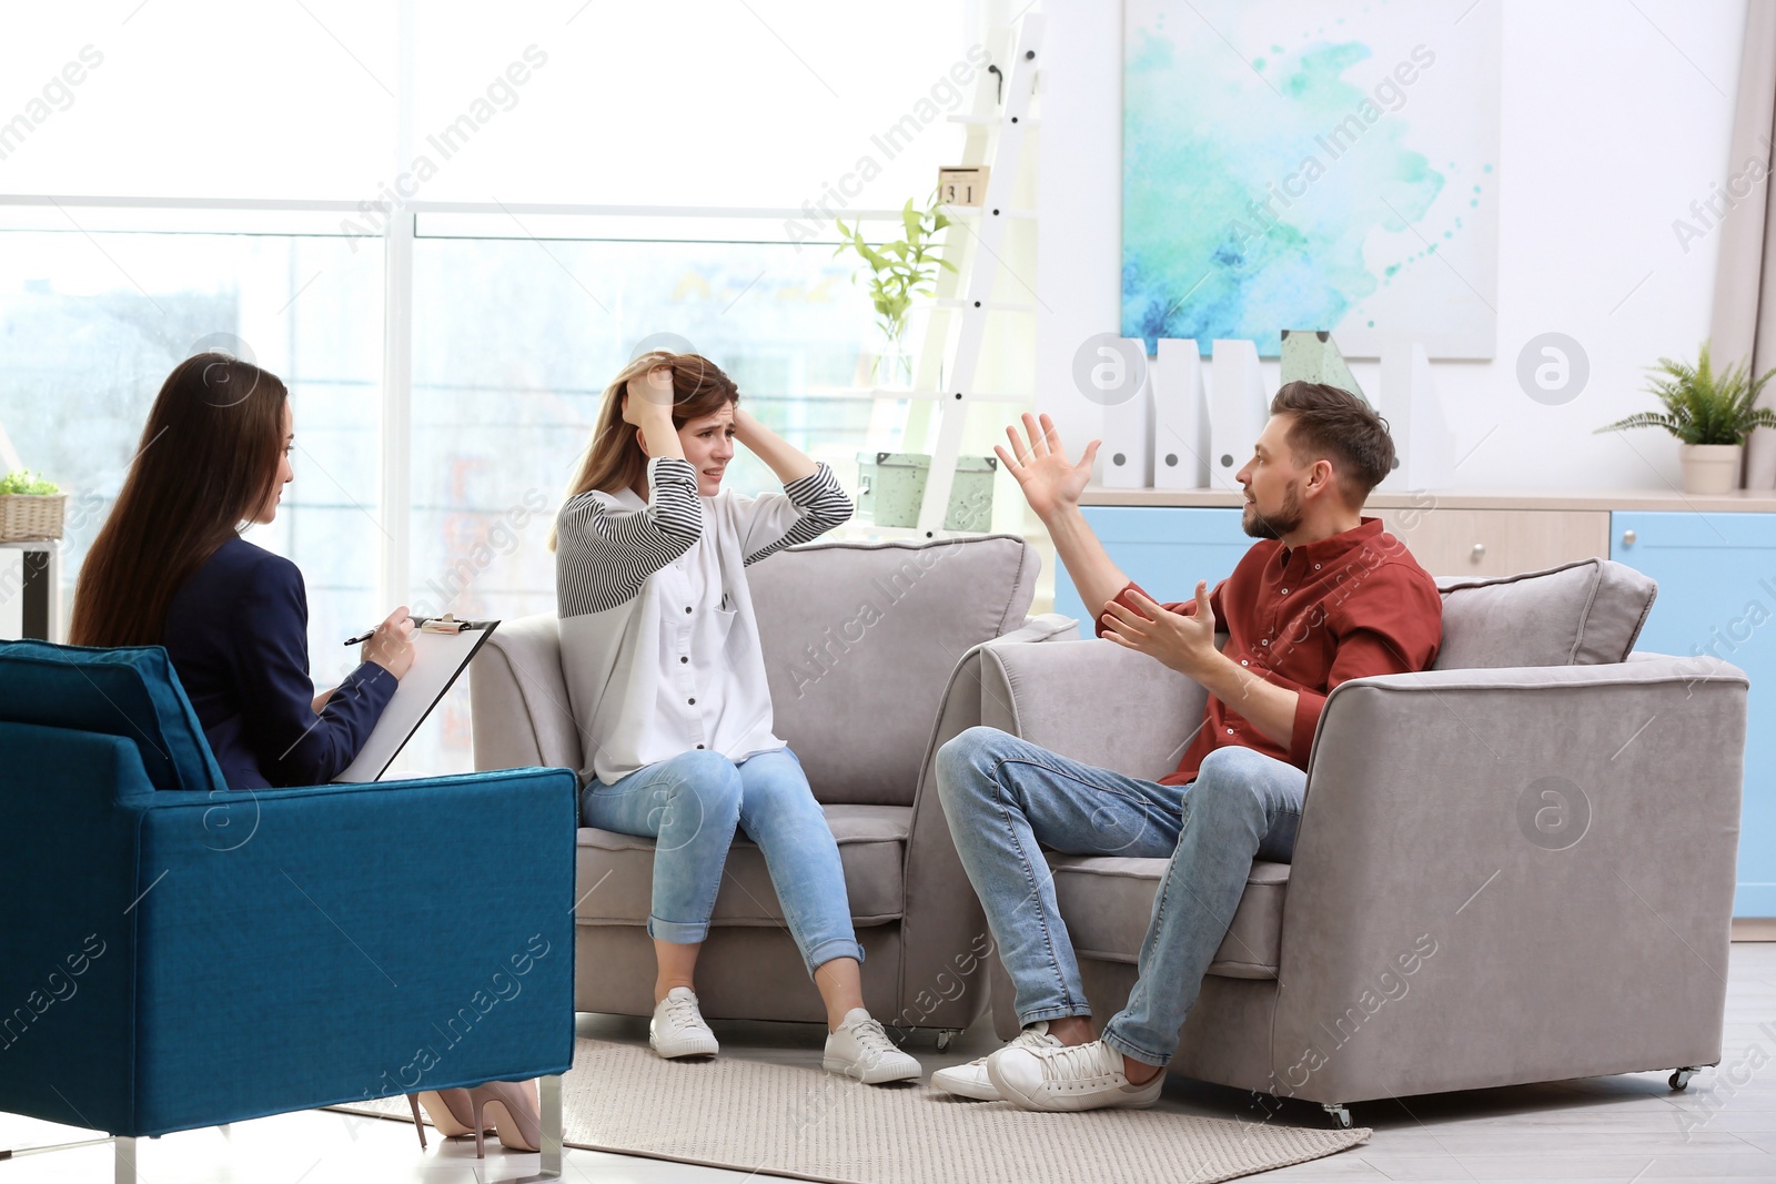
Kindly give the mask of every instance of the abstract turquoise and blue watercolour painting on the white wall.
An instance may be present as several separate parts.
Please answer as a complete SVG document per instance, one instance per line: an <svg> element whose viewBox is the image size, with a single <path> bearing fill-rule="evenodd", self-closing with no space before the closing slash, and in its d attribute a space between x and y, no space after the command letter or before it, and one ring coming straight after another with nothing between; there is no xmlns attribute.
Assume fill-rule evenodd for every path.
<svg viewBox="0 0 1776 1184"><path fill-rule="evenodd" d="M1499 5L1126 0L1122 335L1494 355Z"/></svg>

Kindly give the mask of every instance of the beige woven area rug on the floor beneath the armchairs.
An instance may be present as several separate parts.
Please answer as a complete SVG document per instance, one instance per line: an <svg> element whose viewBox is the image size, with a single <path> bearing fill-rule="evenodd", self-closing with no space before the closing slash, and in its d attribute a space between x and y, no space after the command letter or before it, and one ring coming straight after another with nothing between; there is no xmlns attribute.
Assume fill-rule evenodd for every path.
<svg viewBox="0 0 1776 1184"><path fill-rule="evenodd" d="M561 1081L568 1147L842 1184L1209 1184L1357 1147L1369 1131L1153 1109L1037 1115L924 1085L723 1056L668 1063L575 1040ZM407 1101L341 1106L408 1120Z"/></svg>

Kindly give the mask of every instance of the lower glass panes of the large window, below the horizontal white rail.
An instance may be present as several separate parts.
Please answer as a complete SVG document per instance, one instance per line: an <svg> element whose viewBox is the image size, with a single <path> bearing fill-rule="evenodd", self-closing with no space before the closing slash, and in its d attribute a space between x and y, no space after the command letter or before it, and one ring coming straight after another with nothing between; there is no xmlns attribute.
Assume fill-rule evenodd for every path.
<svg viewBox="0 0 1776 1184"><path fill-rule="evenodd" d="M357 662L339 643L396 602L474 618L554 609L554 509L604 387L652 334L677 334L714 359L753 414L845 485L867 442L893 446L883 408L860 392L870 382L868 300L831 243L733 238L733 220L707 218L655 218L643 240L614 238L636 231L611 220L577 220L581 236L568 238L561 218L549 238L496 236L492 215L456 215L426 234L421 215L408 497L396 520L382 490L380 240L318 231L318 215L298 217L304 231L291 233L263 229L291 215L71 213L80 225L66 231L46 229L64 215L44 209L12 211L12 229L0 229L0 424L25 465L71 493L64 620L149 403L201 348L249 357L289 385L297 478L277 520L247 538L302 568L321 687ZM201 220L238 229L183 229ZM730 238L691 238L712 229ZM773 486L742 451L728 488ZM384 588L389 549L405 550L405 591ZM396 772L471 763L462 683Z"/></svg>

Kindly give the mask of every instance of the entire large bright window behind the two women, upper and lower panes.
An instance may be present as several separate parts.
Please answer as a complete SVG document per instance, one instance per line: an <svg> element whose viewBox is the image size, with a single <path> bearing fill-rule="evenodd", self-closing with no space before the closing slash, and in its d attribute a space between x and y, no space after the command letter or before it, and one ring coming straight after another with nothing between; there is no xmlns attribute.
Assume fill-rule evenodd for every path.
<svg viewBox="0 0 1776 1184"><path fill-rule="evenodd" d="M304 572L320 685L355 662L343 637L401 600L552 609L549 524L600 392L650 334L694 343L852 483L906 408L858 392L872 312L831 217L886 211L893 234L954 163L947 117L986 78L973 16L948 0L16 14L0 424L73 493L64 605L162 380L204 346L289 383L297 479L249 538ZM744 454L728 481L773 485ZM398 772L469 763L460 687Z"/></svg>

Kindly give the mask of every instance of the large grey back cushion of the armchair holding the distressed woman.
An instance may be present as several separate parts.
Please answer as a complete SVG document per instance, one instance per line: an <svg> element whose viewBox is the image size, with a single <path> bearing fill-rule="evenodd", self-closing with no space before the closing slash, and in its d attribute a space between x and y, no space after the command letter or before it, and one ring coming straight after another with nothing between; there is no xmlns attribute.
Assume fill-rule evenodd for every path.
<svg viewBox="0 0 1776 1184"><path fill-rule="evenodd" d="M1023 625L1035 572L1009 534L813 543L746 570L776 735L815 797L913 804L950 673Z"/></svg>

